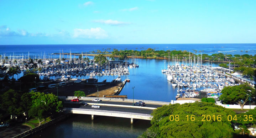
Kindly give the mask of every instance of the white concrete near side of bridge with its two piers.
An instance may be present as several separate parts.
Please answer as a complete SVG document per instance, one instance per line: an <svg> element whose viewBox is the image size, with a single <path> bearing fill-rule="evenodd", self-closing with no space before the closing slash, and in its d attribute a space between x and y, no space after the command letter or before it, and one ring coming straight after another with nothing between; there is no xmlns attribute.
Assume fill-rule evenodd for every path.
<svg viewBox="0 0 256 138"><path fill-rule="evenodd" d="M120 112L120 111L109 111L109 110L99 110L99 109L85 109L85 108L65 108L65 111L67 111L68 113L92 115L92 120L94 120L94 115L131 118L131 124L133 123L133 119L151 120L153 117L149 114L143 114L143 113Z"/></svg>

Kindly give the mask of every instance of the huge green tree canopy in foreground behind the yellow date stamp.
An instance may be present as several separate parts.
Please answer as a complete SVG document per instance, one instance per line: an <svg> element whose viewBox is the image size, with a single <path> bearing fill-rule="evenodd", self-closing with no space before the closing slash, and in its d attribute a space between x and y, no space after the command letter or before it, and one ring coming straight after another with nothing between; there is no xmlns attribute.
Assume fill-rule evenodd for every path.
<svg viewBox="0 0 256 138"><path fill-rule="evenodd" d="M228 121L228 115L236 113L230 109L207 102L176 103L173 105L164 105L153 110L152 126L148 128L141 137L157 138L220 138L231 137L234 132L231 122ZM170 115L174 120L170 121ZM179 116L179 120L175 116ZM189 117L187 117L187 115ZM195 117L190 118L192 115ZM202 115L210 115L209 121L201 121ZM215 121L213 118L215 115ZM221 115L221 121L216 121L216 117ZM189 118L189 121L187 121ZM171 120L173 117L171 117ZM178 121L177 121L178 120Z"/></svg>

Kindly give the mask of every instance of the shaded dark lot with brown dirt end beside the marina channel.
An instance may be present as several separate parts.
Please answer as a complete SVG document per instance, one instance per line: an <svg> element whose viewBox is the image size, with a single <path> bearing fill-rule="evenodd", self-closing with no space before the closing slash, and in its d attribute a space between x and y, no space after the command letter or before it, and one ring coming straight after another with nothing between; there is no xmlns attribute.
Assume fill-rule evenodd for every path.
<svg viewBox="0 0 256 138"><path fill-rule="evenodd" d="M53 83L45 83L45 86ZM67 85L58 87L58 96L74 96L74 91L84 91L86 96L96 97L97 96L97 87L99 86L99 97L103 95L112 95L114 90L117 90L116 87L120 86L121 83L98 83L98 84L86 84L83 81L81 83L74 83L73 81L66 81ZM48 87L47 87L48 88ZM48 92L57 95L57 88L50 88L47 90L40 90L40 92Z"/></svg>

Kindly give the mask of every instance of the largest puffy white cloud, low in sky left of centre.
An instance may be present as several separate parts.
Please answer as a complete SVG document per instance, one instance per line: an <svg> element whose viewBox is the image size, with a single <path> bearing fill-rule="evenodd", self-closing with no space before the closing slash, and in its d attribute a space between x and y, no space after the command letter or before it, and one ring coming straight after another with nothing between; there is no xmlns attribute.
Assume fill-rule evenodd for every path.
<svg viewBox="0 0 256 138"><path fill-rule="evenodd" d="M91 29L74 29L74 37L80 38L95 38L95 39L104 39L108 37L108 34L105 30L100 27L91 28Z"/></svg>

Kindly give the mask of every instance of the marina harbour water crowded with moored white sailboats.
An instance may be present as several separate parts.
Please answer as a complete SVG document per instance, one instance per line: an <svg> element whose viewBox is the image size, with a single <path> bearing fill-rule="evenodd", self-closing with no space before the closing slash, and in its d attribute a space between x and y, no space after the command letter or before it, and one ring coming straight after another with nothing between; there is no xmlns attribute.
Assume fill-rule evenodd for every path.
<svg viewBox="0 0 256 138"><path fill-rule="evenodd" d="M13 53L13 55L15 54ZM21 57L10 56L5 61L7 67L19 67L20 73L14 74L15 79L27 73L36 73L42 81L74 80L75 83L83 81L93 84L96 82L122 82L122 80L126 80L127 82L131 81L131 83L122 86L122 92L116 89L114 93L115 95L126 95L125 97L127 98L133 96L131 94L132 85L136 86L135 90L137 91L134 96L137 99L153 100L155 98L159 101L171 101L179 97L199 98L200 92L207 92L204 89L215 90L215 93L207 92L207 94L209 97L218 99L220 90L224 86L236 85L233 78L225 76L221 73L221 70L216 68L218 64L203 62L200 57L194 57L193 61L191 57L183 59L172 57L173 60L171 61L169 57L164 58L164 60L138 59L136 57L117 60L115 58L116 60L110 60L107 64L101 66L94 63L94 56L87 56L87 54L80 55L80 58L79 55L75 54L70 54L69 57L65 58L65 55L61 53L54 55L55 59L46 59L46 55L42 55L42 59L41 56L37 57L37 59L36 57L27 59L27 57L30 57L29 55ZM163 66L164 69L161 69ZM33 69L35 67L38 70ZM156 78L158 78L158 81L156 81ZM150 84L148 88L142 87L148 84ZM154 87L157 92L153 92L152 87L157 84L162 87ZM148 93L144 91L148 91Z"/></svg>

